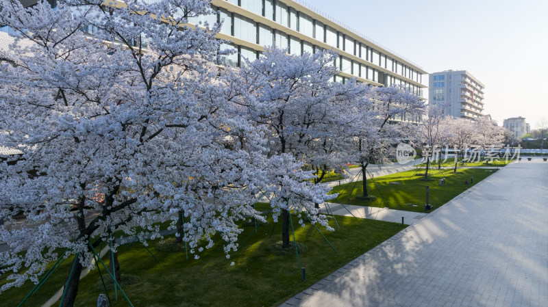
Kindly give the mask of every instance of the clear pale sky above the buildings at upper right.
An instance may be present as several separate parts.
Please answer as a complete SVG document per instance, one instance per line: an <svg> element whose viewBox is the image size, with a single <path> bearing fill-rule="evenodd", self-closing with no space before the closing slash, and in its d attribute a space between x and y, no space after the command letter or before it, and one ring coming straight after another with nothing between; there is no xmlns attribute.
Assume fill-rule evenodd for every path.
<svg viewBox="0 0 548 307"><path fill-rule="evenodd" d="M468 70L499 126L548 120L548 0L301 1L427 72Z"/></svg>

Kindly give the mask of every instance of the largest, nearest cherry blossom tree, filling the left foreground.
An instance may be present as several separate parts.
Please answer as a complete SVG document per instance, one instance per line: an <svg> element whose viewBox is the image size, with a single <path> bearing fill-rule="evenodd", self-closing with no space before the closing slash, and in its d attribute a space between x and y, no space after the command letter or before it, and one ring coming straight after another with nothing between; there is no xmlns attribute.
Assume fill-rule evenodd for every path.
<svg viewBox="0 0 548 307"><path fill-rule="evenodd" d="M218 233L229 253L238 220L262 219L252 204L273 168L279 181L309 178L291 157L265 159L264 135L227 99L211 65L219 25L186 25L213 13L209 1L103 3L0 0L0 24L18 33L1 55L10 64L0 68L0 144L24 152L0 163L0 241L10 247L1 289L38 282L66 249L75 259L62 306L73 306L92 247L114 231L146 244L145 232L161 237L155 223L175 228L182 211L190 252ZM323 200L305 183L280 185L284 198L302 188Z"/></svg>

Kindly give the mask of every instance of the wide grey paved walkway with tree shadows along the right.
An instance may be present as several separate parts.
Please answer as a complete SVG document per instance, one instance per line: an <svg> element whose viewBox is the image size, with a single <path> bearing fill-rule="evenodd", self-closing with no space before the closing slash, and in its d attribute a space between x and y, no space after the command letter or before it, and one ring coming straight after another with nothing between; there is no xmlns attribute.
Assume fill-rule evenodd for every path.
<svg viewBox="0 0 548 307"><path fill-rule="evenodd" d="M282 306L548 306L548 162L510 163Z"/></svg>

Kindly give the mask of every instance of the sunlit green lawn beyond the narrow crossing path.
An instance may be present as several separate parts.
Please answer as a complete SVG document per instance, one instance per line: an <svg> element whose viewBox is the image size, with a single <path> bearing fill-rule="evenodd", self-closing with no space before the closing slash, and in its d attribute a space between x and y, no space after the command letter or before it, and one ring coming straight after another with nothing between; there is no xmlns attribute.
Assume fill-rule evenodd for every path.
<svg viewBox="0 0 548 307"><path fill-rule="evenodd" d="M442 174L438 170L431 170L429 172L429 174L432 174L432 176L429 175L430 181L424 181L424 176L418 176L419 172L424 174L424 170L419 170L419 172L410 170L377 177L373 178L374 182L368 179L368 189L370 194L377 198L376 200L361 197L363 195L362 181L339 185L332 189L332 193L340 193L337 199L338 202L343 204L380 206L389 209L423 212L427 185L429 186L429 203L436 209L472 185L493 174L493 172L488 171L496 172L497 170L468 168L458 170L456 174L453 174L452 169L442 170ZM414 174L415 176L413 176ZM473 176L473 184L470 184L471 176ZM445 178L445 185L438 186L438 179L440 178ZM469 181L468 186L464 185L466 179ZM337 201L332 200L331 202ZM416 206L408 204L416 204Z"/></svg>

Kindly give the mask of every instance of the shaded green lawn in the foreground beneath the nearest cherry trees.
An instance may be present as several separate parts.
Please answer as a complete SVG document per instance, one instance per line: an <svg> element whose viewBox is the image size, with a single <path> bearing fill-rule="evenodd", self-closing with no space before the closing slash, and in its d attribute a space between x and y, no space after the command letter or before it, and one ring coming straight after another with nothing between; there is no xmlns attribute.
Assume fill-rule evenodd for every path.
<svg viewBox="0 0 548 307"><path fill-rule="evenodd" d="M260 204L258 209L266 206ZM171 243L173 236L166 237L166 243L158 240L151 243L150 249L161 263L140 243L123 246L119 248L119 261L123 278L129 282L122 286L134 306L277 306L404 228L401 224L371 219L336 218L340 228L333 220L329 222L336 231L319 228L337 254L313 226L307 224L302 228L296 224L297 217L292 217L297 242L308 247L299 254L301 266L306 267L306 282L301 281L294 250L287 255L271 250L281 239L281 222L270 238L273 222L269 218L269 224L260 226L241 250L232 252L230 259L225 258L222 246L216 245L203 252L198 260L191 256L186 260L181 245ZM240 242L253 228L253 222L245 224ZM107 258L104 260L108 265ZM69 260L23 306L40 306L57 291L70 270ZM234 266L230 266L232 261ZM104 275L105 271L102 268L101 271ZM21 288L5 291L0 295L2 306L17 306L31 288L32 284L27 282ZM92 271L80 281L75 306L95 306L97 296L103 292L97 270ZM118 296L113 306L128 306L120 292ZM114 291L110 291L110 297L114 300Z"/></svg>

